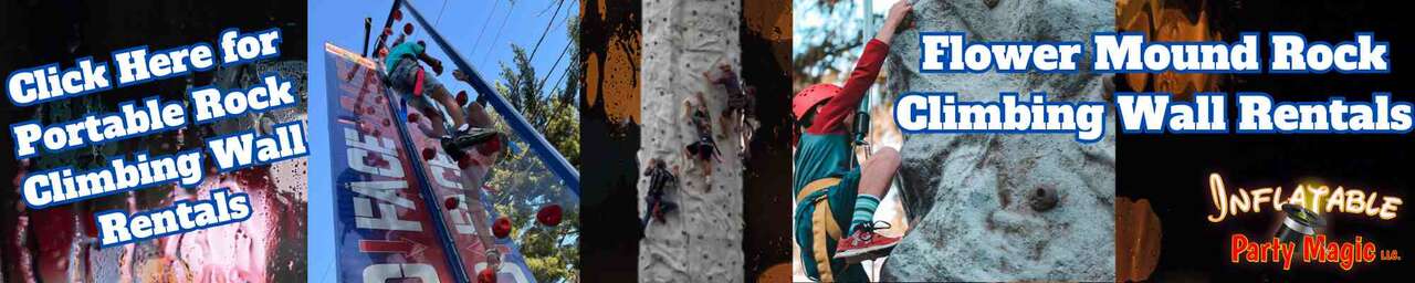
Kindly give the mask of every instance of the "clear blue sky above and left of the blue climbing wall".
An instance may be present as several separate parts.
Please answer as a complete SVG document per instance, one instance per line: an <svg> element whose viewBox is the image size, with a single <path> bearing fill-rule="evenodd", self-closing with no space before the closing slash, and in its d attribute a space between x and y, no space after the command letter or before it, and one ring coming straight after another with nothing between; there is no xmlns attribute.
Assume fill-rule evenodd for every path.
<svg viewBox="0 0 1415 283"><path fill-rule="evenodd" d="M467 58L468 64L488 81L499 81L501 64L512 59L511 44L518 44L531 52L536 40L549 27L538 54L532 59L538 78L546 78L546 86L556 88L562 72L570 64L574 54L563 54L570 44L566 37L566 21L579 13L579 1L565 0L516 0L515 4L507 0L413 0L419 11L434 23L453 47ZM364 17L374 18L374 34L379 33L379 25L388 16L392 0L313 0L308 6L310 23L310 72L308 91L310 102L324 102L324 42L340 45L345 50L359 51L364 47ZM556 14L559 7L559 14ZM403 14L402 23L410 23L412 14ZM553 17L552 17L553 16ZM553 20L553 23L552 23ZM402 23L393 25L395 33L402 31ZM415 24L416 25L416 24ZM396 35L395 35L396 37ZM410 40L433 41L415 28ZM374 44L374 42L369 42ZM451 62L446 62L440 48L429 47L427 52L444 61L441 76L451 92L471 91L466 83L458 83L451 78ZM556 61L559 64L556 65ZM555 68L552 68L555 67ZM549 74L548 74L549 72ZM565 78L573 79L573 78ZM328 120L328 105L310 103L308 129L325 129ZM321 142L311 137L311 144ZM324 140L327 142L327 140ZM323 156L323 157L321 157ZM334 207L333 194L328 191L327 175L330 173L328 149L314 149L310 154L310 197L308 197L308 282L335 282L333 270L334 260ZM321 175L323 174L323 175Z"/></svg>

